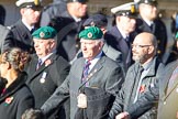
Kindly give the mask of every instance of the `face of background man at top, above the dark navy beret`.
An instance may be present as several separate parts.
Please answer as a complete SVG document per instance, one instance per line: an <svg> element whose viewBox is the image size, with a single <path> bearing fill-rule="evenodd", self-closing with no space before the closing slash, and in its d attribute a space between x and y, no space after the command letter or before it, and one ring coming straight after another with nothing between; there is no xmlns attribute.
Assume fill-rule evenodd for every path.
<svg viewBox="0 0 178 119"><path fill-rule="evenodd" d="M74 2L75 15L77 18L82 18L87 14L87 4L80 2Z"/></svg>

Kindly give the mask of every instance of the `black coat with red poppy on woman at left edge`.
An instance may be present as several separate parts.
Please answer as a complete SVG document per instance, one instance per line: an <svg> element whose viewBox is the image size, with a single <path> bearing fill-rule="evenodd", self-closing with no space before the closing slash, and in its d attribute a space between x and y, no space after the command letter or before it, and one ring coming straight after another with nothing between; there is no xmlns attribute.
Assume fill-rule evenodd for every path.
<svg viewBox="0 0 178 119"><path fill-rule="evenodd" d="M0 118L21 119L22 113L34 108L34 97L25 85L26 75L22 74L0 97Z"/></svg>

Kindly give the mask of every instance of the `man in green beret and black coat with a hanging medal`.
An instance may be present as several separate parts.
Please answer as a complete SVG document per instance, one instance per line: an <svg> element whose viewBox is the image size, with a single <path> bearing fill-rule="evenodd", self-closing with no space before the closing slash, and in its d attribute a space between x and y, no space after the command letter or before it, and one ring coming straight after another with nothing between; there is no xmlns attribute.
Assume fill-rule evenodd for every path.
<svg viewBox="0 0 178 119"><path fill-rule="evenodd" d="M67 61L56 54L56 40L54 39L56 34L55 29L51 26L42 26L32 34L36 55L32 57L27 67L30 77L26 84L34 95L35 108L41 108L69 73ZM63 106L59 109L58 118L66 119L67 110ZM48 119L58 119L55 115L54 111Z"/></svg>

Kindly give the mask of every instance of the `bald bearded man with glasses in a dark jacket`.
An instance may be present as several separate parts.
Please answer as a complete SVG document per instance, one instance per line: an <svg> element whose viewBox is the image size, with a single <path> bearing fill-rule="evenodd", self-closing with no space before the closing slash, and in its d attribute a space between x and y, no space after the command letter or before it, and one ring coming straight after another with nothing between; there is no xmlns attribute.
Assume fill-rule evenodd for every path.
<svg viewBox="0 0 178 119"><path fill-rule="evenodd" d="M156 57L157 41L156 37L143 32L134 39L132 44L132 58L135 63L129 68L125 82L113 107L110 111L110 118L114 119L120 112L127 110L138 97L141 97L148 88L154 87L156 77L159 76L164 65ZM156 119L156 105L140 119ZM116 116L120 119L120 116Z"/></svg>

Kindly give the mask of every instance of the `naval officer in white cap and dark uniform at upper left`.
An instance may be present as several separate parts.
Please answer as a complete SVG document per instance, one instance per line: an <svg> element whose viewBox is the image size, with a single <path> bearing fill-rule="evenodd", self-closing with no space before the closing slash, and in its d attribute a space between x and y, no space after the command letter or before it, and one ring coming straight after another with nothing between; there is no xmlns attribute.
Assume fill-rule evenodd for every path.
<svg viewBox="0 0 178 119"><path fill-rule="evenodd" d="M11 26L13 44L24 51L34 53L32 33L41 15L40 0L18 0L22 19Z"/></svg>

